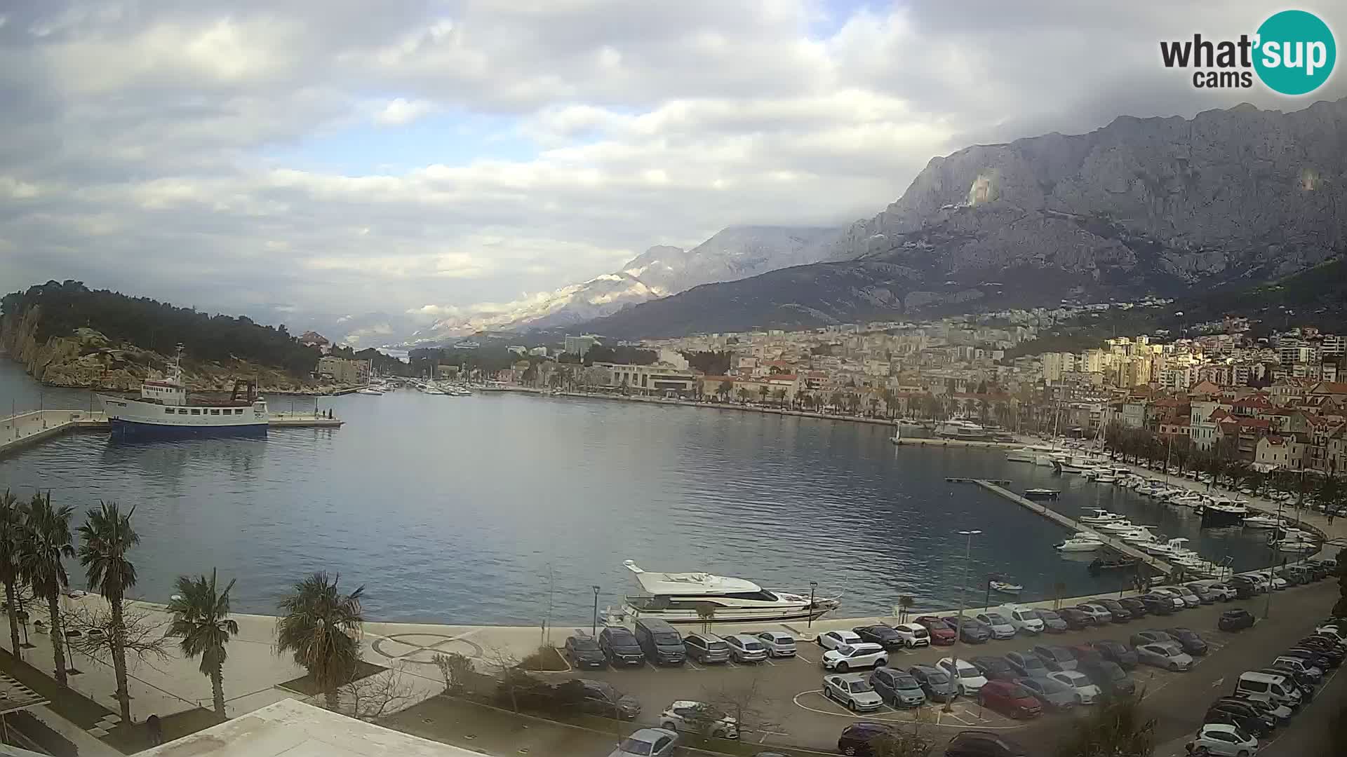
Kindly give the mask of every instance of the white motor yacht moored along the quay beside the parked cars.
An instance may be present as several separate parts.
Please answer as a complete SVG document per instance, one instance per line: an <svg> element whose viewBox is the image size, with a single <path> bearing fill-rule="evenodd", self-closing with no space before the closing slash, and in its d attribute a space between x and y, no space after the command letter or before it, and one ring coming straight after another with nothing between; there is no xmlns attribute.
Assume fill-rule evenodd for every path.
<svg viewBox="0 0 1347 757"><path fill-rule="evenodd" d="M819 618L841 603L836 598L762 589L752 581L710 572L648 572L634 562L632 571L645 595L628 597L632 617L668 622L772 622Z"/></svg>

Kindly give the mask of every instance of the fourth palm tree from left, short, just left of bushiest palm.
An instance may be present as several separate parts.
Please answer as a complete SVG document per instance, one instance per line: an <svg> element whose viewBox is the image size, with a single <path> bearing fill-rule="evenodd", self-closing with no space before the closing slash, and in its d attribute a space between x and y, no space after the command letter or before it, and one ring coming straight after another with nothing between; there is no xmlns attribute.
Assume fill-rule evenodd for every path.
<svg viewBox="0 0 1347 757"><path fill-rule="evenodd" d="M178 648L189 657L201 656L201 675L210 676L210 694L216 700L216 714L225 717L225 644L230 636L238 636L238 624L229 617L230 581L224 591L216 589L216 571L210 579L205 575L195 581L179 575L174 585L178 591L168 612L172 624L164 636L182 638Z"/></svg>

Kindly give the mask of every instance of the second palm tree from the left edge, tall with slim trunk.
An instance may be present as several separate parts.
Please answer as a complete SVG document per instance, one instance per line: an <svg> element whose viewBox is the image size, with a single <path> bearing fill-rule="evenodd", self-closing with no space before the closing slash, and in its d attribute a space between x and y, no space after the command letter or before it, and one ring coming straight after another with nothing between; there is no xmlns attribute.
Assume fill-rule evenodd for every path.
<svg viewBox="0 0 1347 757"><path fill-rule="evenodd" d="M50 492L46 496L40 492L34 494L24 519L28 537L19 562L23 575L32 583L32 593L47 599L47 610L51 613L51 659L57 665L53 672L61 686L66 686L66 656L61 644L65 634L61 629L59 599L61 590L69 583L66 566L61 560L75 556L75 548L70 544L73 512L70 505L53 508Z"/></svg>

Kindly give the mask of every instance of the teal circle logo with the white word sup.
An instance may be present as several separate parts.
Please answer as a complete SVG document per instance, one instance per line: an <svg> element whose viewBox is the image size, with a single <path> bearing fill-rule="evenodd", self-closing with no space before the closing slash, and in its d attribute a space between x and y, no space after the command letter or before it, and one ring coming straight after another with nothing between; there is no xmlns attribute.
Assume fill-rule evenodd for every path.
<svg viewBox="0 0 1347 757"><path fill-rule="evenodd" d="M1334 73L1338 44L1319 16L1282 11L1258 27L1254 70L1265 85L1282 94L1308 94Z"/></svg>

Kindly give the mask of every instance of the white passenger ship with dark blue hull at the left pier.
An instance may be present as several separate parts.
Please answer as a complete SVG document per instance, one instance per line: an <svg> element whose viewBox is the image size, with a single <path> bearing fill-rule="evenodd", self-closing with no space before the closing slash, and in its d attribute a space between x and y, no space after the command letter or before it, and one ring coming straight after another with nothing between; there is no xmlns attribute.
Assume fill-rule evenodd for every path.
<svg viewBox="0 0 1347 757"><path fill-rule="evenodd" d="M100 395L114 438L265 436L267 401L252 381L234 381L229 400L189 404L182 381L182 348L167 378L140 385L140 397Z"/></svg>

